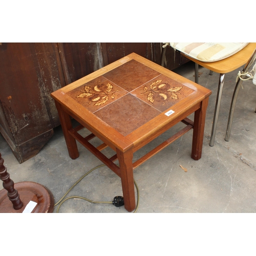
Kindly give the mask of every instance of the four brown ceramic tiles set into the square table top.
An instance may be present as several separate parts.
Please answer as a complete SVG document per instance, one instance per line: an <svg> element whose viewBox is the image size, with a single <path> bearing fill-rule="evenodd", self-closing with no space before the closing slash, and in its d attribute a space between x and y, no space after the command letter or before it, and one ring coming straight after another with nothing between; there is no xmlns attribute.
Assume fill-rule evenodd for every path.
<svg viewBox="0 0 256 256"><path fill-rule="evenodd" d="M126 136L193 92L184 83L131 59L67 95Z"/></svg>

